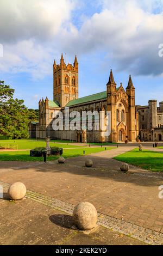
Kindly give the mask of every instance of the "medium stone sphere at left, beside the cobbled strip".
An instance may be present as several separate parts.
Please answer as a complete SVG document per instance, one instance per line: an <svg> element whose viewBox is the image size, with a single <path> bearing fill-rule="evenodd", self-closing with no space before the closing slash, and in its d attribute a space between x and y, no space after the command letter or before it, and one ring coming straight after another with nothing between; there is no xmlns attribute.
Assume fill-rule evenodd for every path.
<svg viewBox="0 0 163 256"><path fill-rule="evenodd" d="M15 182L8 189L8 196L12 200L21 200L26 196L26 186L22 182Z"/></svg>

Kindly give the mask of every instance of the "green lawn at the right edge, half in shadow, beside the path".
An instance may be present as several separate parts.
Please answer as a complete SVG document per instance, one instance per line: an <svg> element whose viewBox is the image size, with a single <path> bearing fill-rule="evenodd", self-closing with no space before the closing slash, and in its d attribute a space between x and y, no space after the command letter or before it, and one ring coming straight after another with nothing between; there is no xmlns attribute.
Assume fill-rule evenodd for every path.
<svg viewBox="0 0 163 256"><path fill-rule="evenodd" d="M153 172L163 172L163 153L156 151L133 149L114 157L114 159L139 166L143 169L152 170Z"/></svg>

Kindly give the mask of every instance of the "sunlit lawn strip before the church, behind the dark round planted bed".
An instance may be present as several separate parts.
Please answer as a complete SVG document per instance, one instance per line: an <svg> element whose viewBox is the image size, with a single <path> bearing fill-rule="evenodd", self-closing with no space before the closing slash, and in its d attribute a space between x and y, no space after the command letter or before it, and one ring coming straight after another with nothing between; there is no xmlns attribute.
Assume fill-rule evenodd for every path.
<svg viewBox="0 0 163 256"><path fill-rule="evenodd" d="M18 145L18 149L34 149L37 147L45 147L46 142L45 141L34 141L34 139L10 139L10 140L1 140L0 141L0 147L4 147L7 145L7 147L10 145ZM50 142L50 146L52 147L58 147L58 148L80 148L83 146L74 146L71 144L59 144L59 143L54 143L53 141ZM15 148L17 149L17 148Z"/></svg>

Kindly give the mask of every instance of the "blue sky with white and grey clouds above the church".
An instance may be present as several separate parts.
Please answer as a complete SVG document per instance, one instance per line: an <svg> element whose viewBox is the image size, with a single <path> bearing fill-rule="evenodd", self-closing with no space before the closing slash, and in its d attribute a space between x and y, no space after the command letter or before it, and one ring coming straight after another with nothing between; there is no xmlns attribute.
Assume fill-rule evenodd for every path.
<svg viewBox="0 0 163 256"><path fill-rule="evenodd" d="M79 97L129 75L136 105L163 101L163 0L1 0L0 80L28 108L53 100L53 63L79 63ZM3 56L2 56L3 48Z"/></svg>

